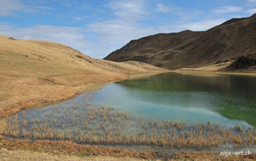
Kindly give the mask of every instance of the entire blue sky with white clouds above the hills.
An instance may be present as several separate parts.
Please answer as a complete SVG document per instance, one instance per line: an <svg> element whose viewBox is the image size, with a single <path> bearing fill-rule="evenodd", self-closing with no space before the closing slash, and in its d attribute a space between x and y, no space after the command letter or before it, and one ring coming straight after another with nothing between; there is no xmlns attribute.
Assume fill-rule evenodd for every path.
<svg viewBox="0 0 256 161"><path fill-rule="evenodd" d="M206 31L256 13L256 0L0 0L0 35L104 58L133 39Z"/></svg>

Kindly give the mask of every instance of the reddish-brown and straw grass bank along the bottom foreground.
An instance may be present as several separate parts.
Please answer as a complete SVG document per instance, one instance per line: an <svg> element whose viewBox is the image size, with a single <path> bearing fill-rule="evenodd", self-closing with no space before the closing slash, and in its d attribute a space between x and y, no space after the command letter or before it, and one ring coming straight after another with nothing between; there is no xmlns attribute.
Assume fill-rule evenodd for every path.
<svg viewBox="0 0 256 161"><path fill-rule="evenodd" d="M173 155L163 154L157 151L134 151L126 149L115 149L111 147L97 147L91 145L79 145L69 141L47 141L36 140L0 140L0 159L9 160L39 160L52 159L56 157L66 160L166 160L166 161L254 161L256 153L251 155L220 156L219 153L175 153ZM41 156L42 158L39 158ZM8 160L9 159L9 160ZM58 160L57 160L58 161Z"/></svg>

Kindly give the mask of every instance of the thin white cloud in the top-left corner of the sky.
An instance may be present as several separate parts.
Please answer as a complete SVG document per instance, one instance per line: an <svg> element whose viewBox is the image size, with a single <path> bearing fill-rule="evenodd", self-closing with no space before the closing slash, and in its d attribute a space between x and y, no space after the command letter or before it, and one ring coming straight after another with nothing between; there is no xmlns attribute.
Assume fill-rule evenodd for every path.
<svg viewBox="0 0 256 161"><path fill-rule="evenodd" d="M27 13L42 12L48 14L48 12L42 10L50 10L52 8L48 6L29 6L23 5L19 0L1 0L0 2L0 16L19 16L15 12L22 11Z"/></svg>

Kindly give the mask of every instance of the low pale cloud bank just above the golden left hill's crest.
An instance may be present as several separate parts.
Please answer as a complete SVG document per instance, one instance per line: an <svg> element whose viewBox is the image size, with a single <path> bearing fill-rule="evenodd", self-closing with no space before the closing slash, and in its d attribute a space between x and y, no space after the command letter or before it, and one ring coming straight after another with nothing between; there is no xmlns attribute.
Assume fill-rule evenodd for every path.
<svg viewBox="0 0 256 161"><path fill-rule="evenodd" d="M35 25L29 28L15 28L10 25L0 25L1 35L18 39L46 40L71 46L77 50L89 47L82 35L84 29L76 27L58 27L51 25Z"/></svg>

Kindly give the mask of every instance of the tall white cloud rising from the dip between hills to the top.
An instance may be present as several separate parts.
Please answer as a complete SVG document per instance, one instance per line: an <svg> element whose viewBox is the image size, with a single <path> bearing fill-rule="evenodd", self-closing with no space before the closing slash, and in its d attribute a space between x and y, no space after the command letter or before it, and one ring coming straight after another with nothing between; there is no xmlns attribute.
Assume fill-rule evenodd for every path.
<svg viewBox="0 0 256 161"><path fill-rule="evenodd" d="M94 52L104 58L132 39L158 33L158 29L141 27L138 23L150 14L146 6L144 0L113 0L105 5L104 7L113 11L115 17L104 21L97 19L96 22L85 26L86 32L93 34L91 38L97 39Z"/></svg>

